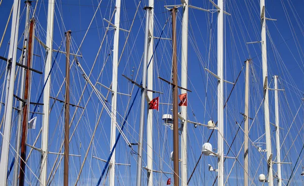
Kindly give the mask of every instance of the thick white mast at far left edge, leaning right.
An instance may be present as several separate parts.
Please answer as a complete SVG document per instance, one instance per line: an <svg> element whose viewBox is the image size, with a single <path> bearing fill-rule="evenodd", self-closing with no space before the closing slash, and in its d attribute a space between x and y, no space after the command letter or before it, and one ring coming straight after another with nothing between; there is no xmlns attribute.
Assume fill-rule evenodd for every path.
<svg viewBox="0 0 304 186"><path fill-rule="evenodd" d="M17 57L17 42L18 42L18 29L19 29L19 14L20 14L20 1L14 0L12 18L12 29L10 39L10 49L7 62L7 83L6 83L6 97L5 97L5 118L4 118L4 132L2 138L1 160L0 160L0 185L6 185L9 148L11 139L11 125L12 125L12 109L13 109L13 96L14 96L14 82L15 82L15 69ZM16 160L17 161L17 160Z"/></svg>

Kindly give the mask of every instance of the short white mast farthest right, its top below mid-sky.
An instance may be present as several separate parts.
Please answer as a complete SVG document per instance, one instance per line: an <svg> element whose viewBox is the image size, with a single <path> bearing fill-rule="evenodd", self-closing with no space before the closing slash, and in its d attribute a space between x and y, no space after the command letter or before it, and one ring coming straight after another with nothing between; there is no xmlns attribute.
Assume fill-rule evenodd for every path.
<svg viewBox="0 0 304 186"><path fill-rule="evenodd" d="M278 186L282 185L281 177L281 150L280 150L280 128L279 128L279 96L278 96L278 76L275 75L275 112L276 112L276 146L278 162Z"/></svg>

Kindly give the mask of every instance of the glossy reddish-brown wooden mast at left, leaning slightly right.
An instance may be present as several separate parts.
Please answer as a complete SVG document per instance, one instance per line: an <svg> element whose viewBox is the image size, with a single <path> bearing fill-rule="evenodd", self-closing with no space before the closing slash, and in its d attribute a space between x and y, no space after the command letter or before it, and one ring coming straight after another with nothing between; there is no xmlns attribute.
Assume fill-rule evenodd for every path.
<svg viewBox="0 0 304 186"><path fill-rule="evenodd" d="M29 38L28 38L28 53L27 53L27 69L25 74L25 87L24 87L24 107L23 107L23 120L22 120L22 137L21 137L21 155L20 155L20 171L19 171L19 186L24 185L24 173L25 173L25 159L26 159L26 133L27 133L27 122L28 122L28 88L30 79L30 64L32 56L32 42L33 42L33 30L34 30L34 19L30 20L29 25Z"/></svg>

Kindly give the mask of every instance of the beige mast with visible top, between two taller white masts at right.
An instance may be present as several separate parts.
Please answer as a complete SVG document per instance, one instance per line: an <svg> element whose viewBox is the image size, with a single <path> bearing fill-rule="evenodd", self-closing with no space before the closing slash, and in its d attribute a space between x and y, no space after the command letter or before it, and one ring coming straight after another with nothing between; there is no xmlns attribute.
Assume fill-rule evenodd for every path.
<svg viewBox="0 0 304 186"><path fill-rule="evenodd" d="M245 80L245 127L244 127L244 186L248 186L248 125L249 125L249 60L246 62Z"/></svg>

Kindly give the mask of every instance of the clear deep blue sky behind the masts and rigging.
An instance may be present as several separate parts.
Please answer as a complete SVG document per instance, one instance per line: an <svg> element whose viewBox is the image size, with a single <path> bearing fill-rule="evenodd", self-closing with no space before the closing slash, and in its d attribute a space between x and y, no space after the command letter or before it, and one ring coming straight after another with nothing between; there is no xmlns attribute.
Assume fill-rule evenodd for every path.
<svg viewBox="0 0 304 186"><path fill-rule="evenodd" d="M55 19L54 19L54 49L58 49L60 43L61 50L65 51L64 32L66 30L72 30L72 43L71 53L76 53L79 48L82 39L86 33L86 30L91 22L91 19L98 7L99 1L56 1L55 5ZM215 2L216 3L216 2ZM7 18L9 16L13 2L2 2L1 18L0 19L0 33L3 33ZM132 24L133 17L136 12L136 7L139 1L122 1L121 6L121 27L129 30ZM164 5L177 5L180 1L155 1L155 36L160 36L160 33L165 26L166 20L170 19L170 13L164 9ZM189 4L204 9L214 9L209 1L189 1ZM37 5L36 11L36 30L35 35L42 41L46 40L46 18L47 18L47 1L39 1L38 3L32 3L32 6ZM126 113L129 105L128 102L134 98L137 87L128 82L121 74L125 74L128 77L132 77L137 82L141 81L142 71L142 56L143 56L143 40L144 40L144 10L143 7L147 5L147 1L141 1L138 9L138 13L135 17L132 30L130 32L129 39L127 40L126 49L124 53L123 46L125 44L128 32L120 32L120 44L119 44L119 56L122 54L122 59L119 65L118 71L118 89L119 92L131 94L131 98L127 96L118 96L119 113L118 123L123 122L123 116ZM292 162L292 165L282 165L282 177L288 179L290 173L295 165L295 162L299 156L300 150L303 146L302 141L302 116L303 109L301 106L301 98L303 95L303 43L304 32L303 22L304 18L302 8L302 1L265 1L266 16L268 18L277 19L277 21L267 21L267 47L268 47L268 77L269 87L273 87L272 77L274 75L280 76L279 88L285 88L284 92L280 92L280 126L284 128L281 130L281 143L283 143L282 161ZM82 58L78 58L82 67L89 75L93 66L96 54L98 52L100 43L106 31L107 23L103 21L103 18L110 20L111 14L115 9L115 1L103 0L100 4L100 9L96 13L96 18L92 21L92 25L88 31L86 38L82 44L80 52ZM21 42L19 47L22 47L22 32L24 30L24 5L21 3L21 19L19 38ZM263 107L259 106L262 101L262 68L261 68L261 49L260 44L247 44L249 41L260 40L260 8L259 1L225 1L225 11L232 14L232 16L224 15L224 76L226 80L236 81L236 78L243 66L243 62L246 59L252 59L251 71L250 71L250 117L255 120L250 121L252 128L250 130L250 140L254 142L259 136L264 133L264 119L263 119ZM177 41L178 41L178 72L180 75L180 38L181 38L181 15L182 10L179 9L177 19ZM188 89L192 92L188 94L188 119L201 123L207 123L210 119L217 120L217 108L216 108L216 80L213 76L210 76L204 68L208 68L212 72L217 71L216 62L216 33L217 33L217 13L206 13L199 10L189 9L189 36L188 36ZM112 23L114 18L112 19ZM7 57L8 42L10 37L9 24L8 31L5 35L4 42L0 48L0 55ZM112 69L112 43L113 43L113 30L109 30L104 39L101 47L101 52L98 56L97 63L92 71L91 81L95 84L96 81L101 82L106 86L111 84L111 69ZM1 34L2 35L2 34ZM163 37L171 38L171 21L166 24L164 28ZM158 39L155 39L155 44ZM171 103L172 93L170 85L159 80L157 76L161 76L165 79L170 79L171 76L171 41L160 40L158 49L154 57L154 89L162 91L163 95L160 96L161 103ZM35 56L33 59L33 68L43 71L45 61L45 51L35 41ZM110 54L110 55L109 55ZM21 53L18 51L18 58ZM53 53L55 58L56 53ZM71 56L71 60L73 57ZM72 63L72 61L71 61ZM102 68L104 66L104 70ZM1 73L5 72L6 63L1 63ZM134 70L134 72L132 72ZM98 78L99 74L100 77ZM138 73L137 73L138 72ZM51 96L56 97L61 86L65 73L65 55L59 54L56 59L56 64L52 72L52 89ZM17 73L17 77L19 73ZM132 76L133 75L133 76ZM224 118L224 136L226 143L231 145L234 136L239 128L235 121L241 124L243 128L242 115L240 112L244 112L244 75L243 71L237 82L237 85L232 93L230 101L225 108ZM1 76L4 80L4 75ZM18 78L16 78L16 84ZM4 82L4 81L1 81ZM42 91L43 76L33 74L31 84L31 101L36 102L38 96ZM15 86L17 88L17 85ZM85 87L85 80L82 77L82 73L79 68L75 66L75 63L71 67L71 103L77 104L80 100L80 95ZM107 90L100 85L96 85L99 91L106 96ZM3 85L1 91L3 91ZM231 84L224 85L224 100L230 94L232 89ZM80 105L84 107L92 92L90 86L87 87L84 93L84 97L80 101ZM16 94L17 94L16 89ZM274 108L274 92L269 91L270 101L270 122L275 123L275 108ZM64 89L59 91L58 99L64 99ZM129 142L136 143L138 140L139 131L139 97L137 97L131 114L127 120L126 128L124 132ZM54 100L51 100L51 105ZM108 108L110 109L110 97L108 97ZM4 98L2 98L4 102ZM42 101L41 101L42 102ZM18 102L14 103L16 106ZM300 107L300 109L299 109ZM63 140L63 127L64 127L64 112L63 104L56 102L51 110L50 118L50 152L58 152ZM170 160L170 153L173 149L172 143L172 131L169 127L163 125L162 115L170 113L170 106L161 105L159 112L154 111L154 169L163 170L166 172L172 172L173 163ZM299 109L299 111L298 111ZM31 111L33 106L31 106ZM75 107L70 109L70 118L72 118ZM82 185L96 184L100 173L103 169L104 162L92 158L93 156L107 159L109 155L109 138L110 138L110 117L103 111L101 119L99 115L102 110L102 104L99 102L95 93L92 94L84 114L81 117L83 109L78 109L75 112L75 118L72 121L70 134L74 130L79 121L78 127L75 129L75 134L71 138L70 154L81 155L81 157L70 157L70 184L74 183L75 177L77 177L80 166L84 160L85 153L87 151L90 138L95 124L98 122L97 132L93 141L91 150L89 151L88 159L85 163L80 183ZM298 113L297 113L298 111ZM39 108L39 112L42 111L42 107ZM3 109L1 110L3 113ZM3 115L3 114L2 114ZM29 130L28 132L28 144L32 145L36 136L39 134L40 127L42 126L42 116L37 115L38 122L36 129ZM13 127L12 127L12 139L11 144L15 147L15 132L17 124L17 112L14 113ZM294 120L294 121L293 121ZM290 128L290 129L289 129ZM3 129L1 129L3 130ZM146 129L144 130L146 131ZM275 153L275 128L271 125L272 131L272 151L274 159ZM117 131L118 133L118 131ZM202 145L207 142L211 130L204 127L194 128L192 124L188 124L188 176L191 174L196 161L198 160ZM244 133L239 130L234 145L231 147L232 152L229 156L237 156L243 143ZM285 140L284 140L285 138ZM217 148L217 132L215 132L210 140L213 148ZM145 142L145 140L144 140ZM264 137L259 141L264 143ZM227 152L229 147L225 144L224 151ZM144 155L143 166L146 166L146 144L144 143ZM37 141L35 147L41 147L41 137ZM265 149L265 146L261 146ZM290 148L290 151L289 151ZM121 137L117 147L118 163L129 163L131 166L117 166L117 185L134 185L136 177L136 159L137 147L133 146L132 151L127 145L124 139ZM27 148L29 152L29 148ZM216 152L216 150L215 150ZM239 155L239 162L233 167L234 160L229 159L225 161L225 176L229 174L232 169L229 182L230 185L243 184L243 150ZM10 162L14 154L11 151ZM265 161L265 154L260 154L254 146L250 143L250 177L253 179L254 185L260 185L258 182L258 174L267 173L267 163ZM56 155L49 155L48 174L51 171ZM60 157L59 157L60 158ZM293 185L301 185L302 178L300 172L302 171L302 159L300 156L297 165L295 166ZM40 167L40 153L33 151L32 156L28 161L28 166L31 171L39 176ZM274 160L276 161L276 160ZM194 176L189 182L189 185L211 185L216 173L208 171L208 164L211 164L214 168L217 167L217 160L213 157L203 157L199 163ZM274 165L276 170L276 165ZM257 171L256 171L257 170ZM33 176L33 173L29 169L26 170L27 184L36 184L37 179ZM146 171L143 170L143 177L146 176ZM172 177L170 174L155 173L155 184L165 184L165 181ZM12 175L9 177L12 180ZM171 178L173 180L173 177ZM58 171L54 176L52 184L60 185L63 180L63 161L59 165ZM103 179L102 182L107 180ZM11 183L11 182L9 182ZM146 179L143 179L143 183L146 183ZM284 180L286 184L287 181Z"/></svg>

